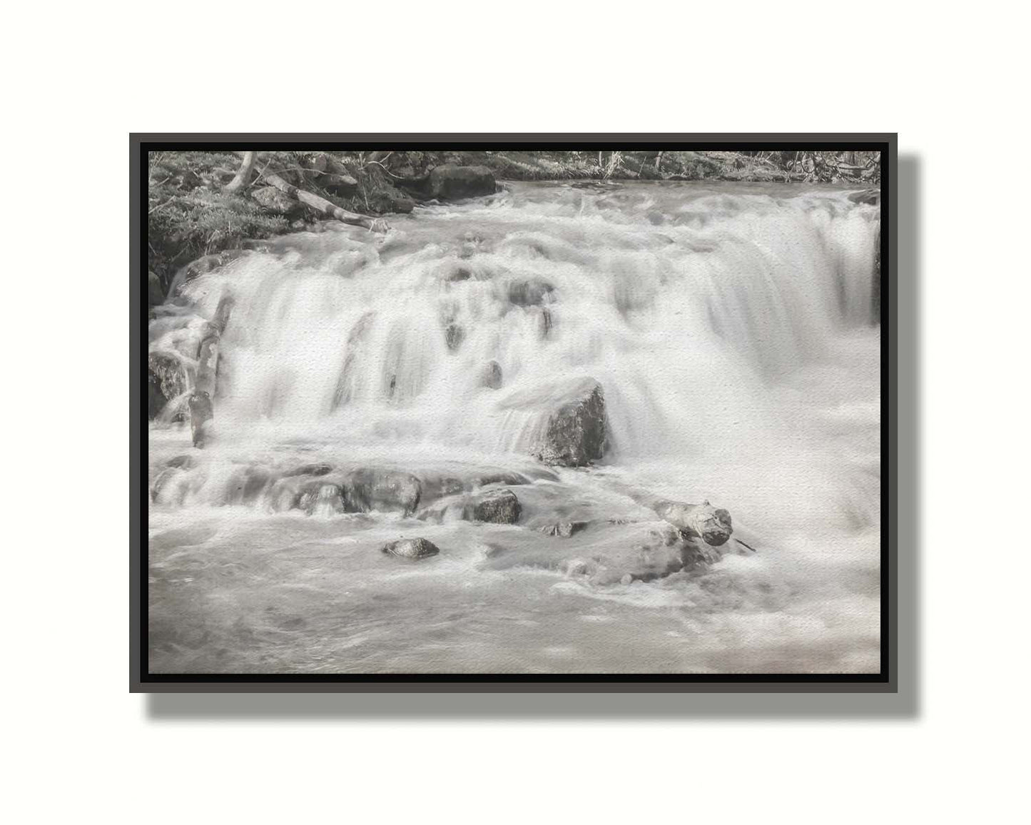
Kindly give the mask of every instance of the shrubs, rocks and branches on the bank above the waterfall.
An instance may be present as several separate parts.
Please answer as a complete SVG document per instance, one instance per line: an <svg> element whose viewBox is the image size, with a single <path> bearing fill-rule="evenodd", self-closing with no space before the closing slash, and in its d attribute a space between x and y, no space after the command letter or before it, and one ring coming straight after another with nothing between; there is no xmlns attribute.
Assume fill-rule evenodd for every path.
<svg viewBox="0 0 1031 825"><path fill-rule="evenodd" d="M444 164L486 166L498 179L880 183L878 153L863 152L271 152L240 177L237 152L152 152L147 262L166 292L176 270L247 239L304 229L319 211L285 194L297 187L360 216L410 211Z"/></svg>

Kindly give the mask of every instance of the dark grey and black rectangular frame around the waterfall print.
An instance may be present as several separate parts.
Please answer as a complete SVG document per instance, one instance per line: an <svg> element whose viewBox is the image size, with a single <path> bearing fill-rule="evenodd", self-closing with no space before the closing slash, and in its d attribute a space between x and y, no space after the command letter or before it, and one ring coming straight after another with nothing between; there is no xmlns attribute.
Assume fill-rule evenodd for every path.
<svg viewBox="0 0 1031 825"><path fill-rule="evenodd" d="M867 151L880 152L880 671L878 673L160 673L148 658L146 484L146 153L217 150L597 150L597 151ZM898 312L898 135L896 133L749 134L178 134L129 136L130 318L130 665L133 693L158 692L490 692L490 693L897 693L898 673L898 409L895 350ZM887 229L887 231L885 231ZM886 437L887 436L887 437ZM887 515L887 518L885 518Z"/></svg>

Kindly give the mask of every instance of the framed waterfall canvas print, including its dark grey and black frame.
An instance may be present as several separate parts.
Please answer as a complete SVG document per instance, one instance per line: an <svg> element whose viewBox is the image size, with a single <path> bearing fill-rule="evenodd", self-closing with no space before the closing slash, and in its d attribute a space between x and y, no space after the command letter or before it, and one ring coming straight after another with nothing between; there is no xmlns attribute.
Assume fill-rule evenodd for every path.
<svg viewBox="0 0 1031 825"><path fill-rule="evenodd" d="M131 689L893 691L893 134L134 134Z"/></svg>

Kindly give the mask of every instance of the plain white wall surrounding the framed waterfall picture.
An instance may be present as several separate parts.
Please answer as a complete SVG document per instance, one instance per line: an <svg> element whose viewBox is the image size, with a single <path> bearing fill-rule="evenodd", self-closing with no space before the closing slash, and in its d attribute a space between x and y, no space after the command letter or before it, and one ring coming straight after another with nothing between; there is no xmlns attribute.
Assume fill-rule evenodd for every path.
<svg viewBox="0 0 1031 825"><path fill-rule="evenodd" d="M0 602L6 801L21 811L9 821L1026 817L1024 8L364 9L12 12ZM277 129L897 130L922 183L920 272L901 273L921 280L916 711L882 697L842 718L827 697L774 697L790 715L771 717L742 697L638 696L619 708L678 715L391 721L300 697L308 717L189 718L195 705L167 702L148 715L126 689L128 132ZM727 718L737 699L754 715Z"/></svg>

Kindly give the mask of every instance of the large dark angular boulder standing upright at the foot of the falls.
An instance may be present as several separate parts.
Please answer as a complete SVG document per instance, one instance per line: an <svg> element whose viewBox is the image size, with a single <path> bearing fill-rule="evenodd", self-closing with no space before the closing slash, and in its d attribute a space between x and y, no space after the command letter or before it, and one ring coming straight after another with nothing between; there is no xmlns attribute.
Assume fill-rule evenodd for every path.
<svg viewBox="0 0 1031 825"><path fill-rule="evenodd" d="M605 455L605 399L601 385L593 380L576 385L567 397L548 417L531 455L545 464L583 467Z"/></svg>

